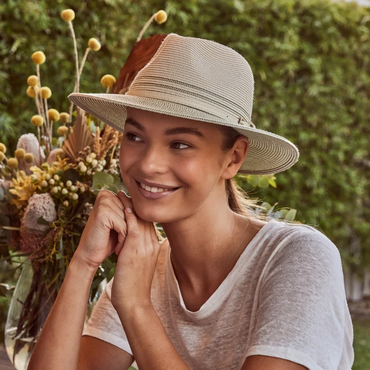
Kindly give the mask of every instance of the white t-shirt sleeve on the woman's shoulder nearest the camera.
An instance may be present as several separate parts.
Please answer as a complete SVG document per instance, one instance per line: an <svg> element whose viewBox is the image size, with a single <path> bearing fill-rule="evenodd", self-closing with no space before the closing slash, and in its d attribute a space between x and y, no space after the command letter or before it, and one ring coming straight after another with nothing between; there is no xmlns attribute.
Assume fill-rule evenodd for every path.
<svg viewBox="0 0 370 370"><path fill-rule="evenodd" d="M339 364L345 361L349 311L340 254L324 234L295 231L277 246L258 302L246 357L279 357L309 370L344 369Z"/></svg>

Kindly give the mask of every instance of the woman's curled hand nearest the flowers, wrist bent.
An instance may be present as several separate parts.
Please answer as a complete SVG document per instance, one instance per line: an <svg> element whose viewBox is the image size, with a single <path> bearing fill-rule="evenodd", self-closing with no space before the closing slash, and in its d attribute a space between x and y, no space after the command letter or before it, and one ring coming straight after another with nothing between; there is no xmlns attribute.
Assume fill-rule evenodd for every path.
<svg viewBox="0 0 370 370"><path fill-rule="evenodd" d="M110 190L100 190L74 254L98 268L113 251L119 254L127 236L124 206Z"/></svg>

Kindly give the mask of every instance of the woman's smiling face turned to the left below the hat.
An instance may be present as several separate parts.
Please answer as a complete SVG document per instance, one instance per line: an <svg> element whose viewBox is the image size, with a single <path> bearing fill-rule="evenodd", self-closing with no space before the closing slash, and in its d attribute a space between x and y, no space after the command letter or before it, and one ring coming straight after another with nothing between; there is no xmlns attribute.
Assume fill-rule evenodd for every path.
<svg viewBox="0 0 370 370"><path fill-rule="evenodd" d="M124 132L119 166L140 218L178 221L220 197L226 157L216 124L129 107Z"/></svg>

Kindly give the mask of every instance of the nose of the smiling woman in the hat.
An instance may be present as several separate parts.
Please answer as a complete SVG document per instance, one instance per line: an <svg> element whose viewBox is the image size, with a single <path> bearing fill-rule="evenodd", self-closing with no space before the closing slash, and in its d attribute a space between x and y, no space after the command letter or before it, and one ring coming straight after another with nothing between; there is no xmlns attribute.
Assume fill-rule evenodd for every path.
<svg viewBox="0 0 370 370"><path fill-rule="evenodd" d="M143 175L150 176L155 173L167 171L167 158L158 145L148 145L139 158L139 168Z"/></svg>

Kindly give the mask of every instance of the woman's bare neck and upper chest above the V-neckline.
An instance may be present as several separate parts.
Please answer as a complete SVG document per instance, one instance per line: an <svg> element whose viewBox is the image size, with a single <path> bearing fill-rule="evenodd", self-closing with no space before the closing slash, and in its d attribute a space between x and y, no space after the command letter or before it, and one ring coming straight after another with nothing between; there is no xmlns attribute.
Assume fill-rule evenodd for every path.
<svg viewBox="0 0 370 370"><path fill-rule="evenodd" d="M205 204L190 217L162 224L179 286L198 294L222 283L248 244L248 229L255 228L226 202L212 205L212 209Z"/></svg>

